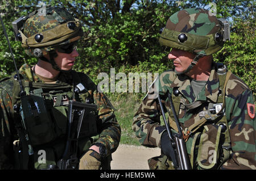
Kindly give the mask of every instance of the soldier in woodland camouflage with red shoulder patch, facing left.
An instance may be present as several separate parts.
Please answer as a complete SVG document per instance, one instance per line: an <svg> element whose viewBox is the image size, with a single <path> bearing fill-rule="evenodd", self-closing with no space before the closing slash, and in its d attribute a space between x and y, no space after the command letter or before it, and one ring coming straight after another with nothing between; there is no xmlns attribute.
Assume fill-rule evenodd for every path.
<svg viewBox="0 0 256 181"><path fill-rule="evenodd" d="M154 81L132 125L142 145L161 149L159 157L148 160L150 169L177 168L167 129L160 125L158 96L171 132L181 128L192 169L256 169L253 95L225 65L213 61L227 39L227 22L207 10L184 9L167 20L159 42L171 47L168 59L175 70Z"/></svg>

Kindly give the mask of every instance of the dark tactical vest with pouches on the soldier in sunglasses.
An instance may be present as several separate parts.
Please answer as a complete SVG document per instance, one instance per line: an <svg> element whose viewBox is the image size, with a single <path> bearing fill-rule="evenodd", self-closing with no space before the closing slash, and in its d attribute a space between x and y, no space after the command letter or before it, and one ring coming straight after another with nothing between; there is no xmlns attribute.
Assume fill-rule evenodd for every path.
<svg viewBox="0 0 256 181"><path fill-rule="evenodd" d="M72 71L72 74L74 85L82 83L86 87L76 71ZM19 134L19 141L14 145L15 161L18 161L15 167L16 169L48 169L48 166L56 165L65 149L68 100L72 100L75 95L79 102L91 104L94 101L87 90L74 94L73 85L68 83L49 84L24 81L22 83L28 95L23 102L30 105L31 114L30 117L20 119L20 115L24 116L22 112L27 111L26 105L20 105L20 115L14 113ZM15 81L14 94L18 94L19 90L18 81ZM17 103L20 104L20 101ZM84 119L86 121L82 122L77 145L79 159L99 137L101 121L98 120L97 115L97 112L86 115L88 116ZM26 120L26 123L24 124L22 120Z"/></svg>

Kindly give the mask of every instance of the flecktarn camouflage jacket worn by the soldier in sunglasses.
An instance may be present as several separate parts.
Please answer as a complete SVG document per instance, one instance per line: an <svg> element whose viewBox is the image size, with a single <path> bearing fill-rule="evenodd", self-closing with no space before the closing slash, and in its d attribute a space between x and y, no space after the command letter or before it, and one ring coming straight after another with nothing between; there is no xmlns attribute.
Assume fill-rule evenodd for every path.
<svg viewBox="0 0 256 181"><path fill-rule="evenodd" d="M80 139L80 156L85 153L86 149L88 149L90 145L93 144L93 142L101 142L102 144L104 144L107 150L107 155L112 154L117 149L121 137L121 128L114 115L114 107L109 102L108 98L106 98L104 94L97 90L97 86L90 80L87 75L85 75L84 73L77 73L74 70L72 70L71 73L60 73L59 77L57 78L57 82L50 85L49 83L44 84L44 82L39 79L39 77L32 73L31 66L28 66L27 64L24 64L19 69L19 73L22 77L22 81L24 82L25 89L30 89L29 87L26 88L26 85L30 85L29 82L34 82L37 86L46 85L48 86L48 88L51 87L52 89L52 91L48 91L49 94L47 93L46 97L50 99L48 101L49 104L54 102L54 106L52 106L51 108L51 110L53 111L51 111L49 115L54 117L54 120L58 127L58 130L57 127L55 128L57 130L56 134L60 135L60 140L56 141L57 138L55 139L55 141L53 140L53 142L55 143L53 143L52 146L54 148L54 151L52 153L55 156L57 155L57 158L52 158L51 156L49 160L46 160L46 164L55 164L56 159L58 160L63 154L63 145L65 145L66 141L64 135L65 131L67 130L67 124L65 124L63 121L67 120L65 117L65 113L67 112L67 102L68 100L72 100L73 94L71 90L73 85L72 83L75 79L76 81L78 81L77 79L80 79L80 83L82 83L85 89L88 90L85 93L80 94L79 97L76 98L76 100L85 103L88 103L89 101L90 103L96 104L98 117L101 122L100 128L98 128L99 133L96 136ZM74 75L78 77L73 79ZM54 91L55 86L64 86L65 88L63 89L63 91L60 91L60 89ZM15 140L18 140L19 137L16 133L16 129L14 128L15 113L13 113L13 106L14 104L20 102L18 88L18 81L15 81L13 78L0 82L0 169L14 168L13 142ZM59 101L57 100L58 98L60 98ZM46 134L46 138L47 135L48 133ZM42 148L42 146L39 149L46 151L48 150L48 148L45 149L44 147ZM34 155L36 157L35 153L36 146L34 149ZM51 154L47 153L47 155ZM46 166L36 162L36 159L37 158L34 158L36 169L47 168ZM48 157L46 159L48 159Z"/></svg>

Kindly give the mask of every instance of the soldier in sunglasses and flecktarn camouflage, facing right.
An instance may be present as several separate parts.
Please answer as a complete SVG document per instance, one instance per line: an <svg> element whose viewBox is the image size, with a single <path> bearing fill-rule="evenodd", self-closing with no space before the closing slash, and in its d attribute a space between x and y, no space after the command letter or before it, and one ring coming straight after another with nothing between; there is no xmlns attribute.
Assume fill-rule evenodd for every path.
<svg viewBox="0 0 256 181"><path fill-rule="evenodd" d="M0 169L110 169L121 129L108 98L86 74L72 70L83 35L79 20L47 7L20 22L17 38L38 62L0 83ZM97 108L85 108L79 122L81 110L69 110L69 100Z"/></svg>

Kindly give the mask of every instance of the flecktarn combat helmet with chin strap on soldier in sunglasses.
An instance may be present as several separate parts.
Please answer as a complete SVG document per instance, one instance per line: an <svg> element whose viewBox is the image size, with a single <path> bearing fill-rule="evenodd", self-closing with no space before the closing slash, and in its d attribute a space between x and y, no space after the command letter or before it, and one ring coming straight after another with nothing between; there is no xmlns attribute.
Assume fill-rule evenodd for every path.
<svg viewBox="0 0 256 181"><path fill-rule="evenodd" d="M60 70L54 61L55 49L71 53L82 35L81 24L63 7L42 7L13 22L16 40L29 56L50 62ZM44 57L49 53L50 60Z"/></svg>

